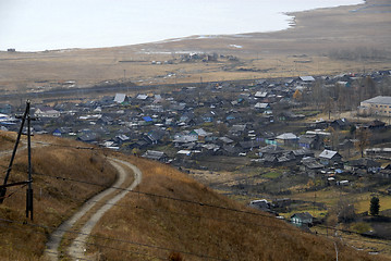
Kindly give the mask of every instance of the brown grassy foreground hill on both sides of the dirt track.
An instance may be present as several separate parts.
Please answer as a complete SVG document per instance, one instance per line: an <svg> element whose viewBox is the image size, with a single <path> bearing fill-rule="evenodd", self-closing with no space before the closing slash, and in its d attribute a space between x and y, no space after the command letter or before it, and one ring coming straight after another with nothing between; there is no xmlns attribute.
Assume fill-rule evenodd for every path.
<svg viewBox="0 0 391 261"><path fill-rule="evenodd" d="M5 135L12 138L12 134ZM85 146L46 136L34 136L34 142L35 221L22 225L26 221L23 192L15 191L0 206L1 237L7 243L0 251L9 260L40 259L50 233L48 227L57 227L101 189L70 179L108 186L115 175L106 164L108 154L100 150L81 149ZM176 253L185 260L203 260L203 257L332 260L337 247L340 260L375 260L339 239L308 234L265 212L251 210L169 165L118 153L111 156L137 165L144 177L139 187L117 203L96 226L87 251L95 257L156 260ZM2 158L1 173L5 162ZM26 153L22 152L12 181L23 179L24 169Z"/></svg>

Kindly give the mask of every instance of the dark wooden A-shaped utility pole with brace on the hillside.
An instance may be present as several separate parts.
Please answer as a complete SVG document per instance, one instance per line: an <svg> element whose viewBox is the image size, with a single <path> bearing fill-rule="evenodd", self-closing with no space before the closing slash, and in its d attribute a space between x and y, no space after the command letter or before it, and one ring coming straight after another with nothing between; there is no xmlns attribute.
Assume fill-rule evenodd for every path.
<svg viewBox="0 0 391 261"><path fill-rule="evenodd" d="M8 187L13 187L13 186L21 186L21 185L27 185L27 191L26 191L26 217L30 217L30 220L33 220L33 178L32 178L32 140L30 140L30 121L34 120L30 117L29 115L29 101L26 101L26 110L23 114L23 116L19 117L22 119L22 123L21 123L21 127L19 129L17 133L17 137L16 137L16 141L15 141L15 146L13 148L12 151L12 156L11 156L11 160L10 160L10 164L9 167L7 169L7 173L5 173L5 177L4 177L4 182L3 185L0 185L0 203L2 203L4 201L5 194L7 194L7 188ZM8 179L10 177L10 173L12 170L12 165L13 165L13 161L15 159L16 156L16 150L17 150L17 146L19 142L21 141L21 136L23 133L23 126L25 124L27 120L27 150L28 150L28 171L27 171L27 182L16 182L16 183L11 183L8 184Z"/></svg>

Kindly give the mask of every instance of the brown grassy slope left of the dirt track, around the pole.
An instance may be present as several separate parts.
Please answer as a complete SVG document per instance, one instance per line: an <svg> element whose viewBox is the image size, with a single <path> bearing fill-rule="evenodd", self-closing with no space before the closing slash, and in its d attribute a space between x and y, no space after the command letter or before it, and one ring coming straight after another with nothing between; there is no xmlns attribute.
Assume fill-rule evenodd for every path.
<svg viewBox="0 0 391 261"><path fill-rule="evenodd" d="M4 134L0 132L0 140ZM44 140L57 145L70 144L51 137L34 136L33 141ZM85 146L85 145L82 145ZM68 147L40 147L33 146L33 189L34 189L34 224L45 226L58 226L88 198L97 194L101 187L70 183L45 175L63 176L68 178L83 179L102 185L110 185L115 177L114 169L105 162L105 158L93 150L76 150ZM2 150L2 149L1 149ZM0 158L0 181L2 183L5 166L10 156ZM27 154L26 151L17 153L9 183L26 181ZM25 188L21 186L8 189L8 194L15 192L0 204L0 219L20 222L25 219ZM38 260L45 249L49 229L9 224L0 221L1 260Z"/></svg>

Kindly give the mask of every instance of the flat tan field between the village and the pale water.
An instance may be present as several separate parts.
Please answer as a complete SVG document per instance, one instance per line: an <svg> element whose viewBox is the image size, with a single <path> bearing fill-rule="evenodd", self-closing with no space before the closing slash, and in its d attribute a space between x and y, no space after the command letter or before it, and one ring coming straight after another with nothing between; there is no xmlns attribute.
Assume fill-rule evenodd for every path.
<svg viewBox="0 0 391 261"><path fill-rule="evenodd" d="M0 52L0 91L76 90L108 80L143 86L389 70L391 7L387 4L387 0L369 0L364 5L295 13L294 27L274 33L103 49ZM219 58L183 62L183 53L192 52Z"/></svg>

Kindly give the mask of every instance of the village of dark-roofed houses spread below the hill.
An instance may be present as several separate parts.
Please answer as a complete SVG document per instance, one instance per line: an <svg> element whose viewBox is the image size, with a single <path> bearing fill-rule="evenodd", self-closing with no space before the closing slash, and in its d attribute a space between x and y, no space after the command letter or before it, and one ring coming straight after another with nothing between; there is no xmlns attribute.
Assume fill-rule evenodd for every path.
<svg viewBox="0 0 391 261"><path fill-rule="evenodd" d="M349 211L353 201L330 203L325 191L337 189L345 199L364 194L364 201L391 195L389 85L390 71L382 71L33 102L32 132L171 164L307 227L330 224L330 210L340 203L337 222L365 212L359 202L358 211ZM16 132L12 115L22 110L1 104L1 130ZM390 239L382 228L371 234Z"/></svg>

